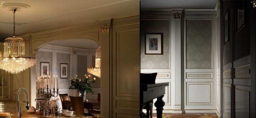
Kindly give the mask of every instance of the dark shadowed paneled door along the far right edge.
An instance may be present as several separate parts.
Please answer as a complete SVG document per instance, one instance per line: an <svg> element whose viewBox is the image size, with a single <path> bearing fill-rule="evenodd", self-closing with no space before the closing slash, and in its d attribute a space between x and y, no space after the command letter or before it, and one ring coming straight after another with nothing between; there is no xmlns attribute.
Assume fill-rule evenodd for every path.
<svg viewBox="0 0 256 118"><path fill-rule="evenodd" d="M253 46L252 3L249 0L222 1L222 104L224 118L252 118ZM252 65L253 64L253 65ZM254 77L255 79L255 77ZM255 98L253 98L255 99Z"/></svg>

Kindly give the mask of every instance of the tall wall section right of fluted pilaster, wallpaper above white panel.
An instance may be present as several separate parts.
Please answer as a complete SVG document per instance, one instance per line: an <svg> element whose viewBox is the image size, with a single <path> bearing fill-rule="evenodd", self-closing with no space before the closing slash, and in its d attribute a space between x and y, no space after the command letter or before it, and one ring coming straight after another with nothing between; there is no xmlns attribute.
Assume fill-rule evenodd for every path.
<svg viewBox="0 0 256 118"><path fill-rule="evenodd" d="M216 112L216 16L184 16L184 110Z"/></svg>

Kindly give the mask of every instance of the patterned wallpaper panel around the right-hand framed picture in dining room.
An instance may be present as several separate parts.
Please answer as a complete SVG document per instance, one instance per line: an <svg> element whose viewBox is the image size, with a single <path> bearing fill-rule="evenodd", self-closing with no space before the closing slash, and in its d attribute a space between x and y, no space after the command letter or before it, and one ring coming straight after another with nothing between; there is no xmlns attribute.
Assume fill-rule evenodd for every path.
<svg viewBox="0 0 256 118"><path fill-rule="evenodd" d="M56 53L56 58L59 88L68 88L70 86L70 81L68 80L70 78L70 54ZM60 78L60 63L68 64L68 79Z"/></svg>

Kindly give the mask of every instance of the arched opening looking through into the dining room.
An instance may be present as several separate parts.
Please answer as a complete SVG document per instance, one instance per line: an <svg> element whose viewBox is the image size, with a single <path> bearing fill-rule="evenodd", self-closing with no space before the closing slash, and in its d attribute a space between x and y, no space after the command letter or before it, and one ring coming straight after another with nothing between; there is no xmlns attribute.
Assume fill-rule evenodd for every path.
<svg viewBox="0 0 256 118"><path fill-rule="evenodd" d="M54 39L51 42L41 44L36 48L36 66L31 69L32 76L37 80L31 79L31 100L40 97L38 94L38 88L42 86L38 83L38 78L42 76L42 64L49 64L49 85L52 87L56 83L56 76L58 76L58 92L59 94L67 93L69 96L78 96L77 90L70 90L70 80L78 75L78 78L83 80L84 75L90 75L90 79L95 81L92 86L94 94L86 94L86 98L97 99L97 95L100 93L100 78L87 73L87 68L95 67L95 51L99 47L99 44L94 40L76 38L76 39ZM62 76L62 66L67 67L66 74ZM55 77L55 84L53 85L52 78ZM32 77L33 78L33 77ZM95 80L93 78L96 78ZM46 89L46 80L44 79L44 89ZM39 85L39 87L38 87ZM34 90L36 88L36 90ZM56 89L55 89L56 91ZM38 97L39 96L39 97ZM57 93L55 93L57 96ZM50 99L59 99L60 96L51 97ZM60 108L62 107L61 101L58 100ZM32 103L33 104L33 103ZM35 103L36 104L36 103ZM44 106L46 107L46 105Z"/></svg>

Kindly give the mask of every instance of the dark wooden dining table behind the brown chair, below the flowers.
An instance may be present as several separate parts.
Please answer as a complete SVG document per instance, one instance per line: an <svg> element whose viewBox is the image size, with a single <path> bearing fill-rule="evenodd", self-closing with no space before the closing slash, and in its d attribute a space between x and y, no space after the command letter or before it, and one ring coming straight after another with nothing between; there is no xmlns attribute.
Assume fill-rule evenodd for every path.
<svg viewBox="0 0 256 118"><path fill-rule="evenodd" d="M100 110L100 100L98 99L87 99L87 100L88 102L84 102L84 108ZM66 107L70 107L70 108L72 107L70 100L63 100L62 104L63 106L66 106Z"/></svg>

